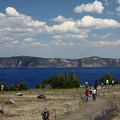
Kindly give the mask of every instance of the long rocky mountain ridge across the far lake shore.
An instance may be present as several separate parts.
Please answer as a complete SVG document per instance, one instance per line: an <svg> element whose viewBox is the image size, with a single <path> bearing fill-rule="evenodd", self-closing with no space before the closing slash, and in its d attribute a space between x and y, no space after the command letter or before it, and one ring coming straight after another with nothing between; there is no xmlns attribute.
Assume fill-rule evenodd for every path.
<svg viewBox="0 0 120 120"><path fill-rule="evenodd" d="M0 68L120 67L120 59L88 57L82 59L0 57Z"/></svg>

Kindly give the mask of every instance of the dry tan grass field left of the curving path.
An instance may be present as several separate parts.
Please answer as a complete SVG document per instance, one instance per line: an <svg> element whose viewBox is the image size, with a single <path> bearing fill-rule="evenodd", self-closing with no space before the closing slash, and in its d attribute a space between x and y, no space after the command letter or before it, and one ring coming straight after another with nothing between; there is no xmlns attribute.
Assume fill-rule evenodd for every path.
<svg viewBox="0 0 120 120"><path fill-rule="evenodd" d="M15 96L15 93L1 94L0 107L4 107L5 114L0 115L0 120L42 120L41 111L46 107L50 111L51 120L57 119L83 105L78 91L75 91L61 90L60 93L54 90L54 94L49 91L50 94L47 93L45 100L37 98L38 90L33 90L31 94L23 91L23 96ZM68 95L65 95L66 92ZM76 94L79 97L76 97ZM5 100L9 99L16 104L5 104Z"/></svg>

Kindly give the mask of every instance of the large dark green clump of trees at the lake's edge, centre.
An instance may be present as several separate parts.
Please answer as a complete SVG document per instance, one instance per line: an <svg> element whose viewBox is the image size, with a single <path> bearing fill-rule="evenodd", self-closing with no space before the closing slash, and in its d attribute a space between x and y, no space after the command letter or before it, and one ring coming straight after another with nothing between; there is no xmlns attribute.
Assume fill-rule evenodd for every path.
<svg viewBox="0 0 120 120"><path fill-rule="evenodd" d="M65 74L56 73L55 76L44 79L42 85L50 85L52 88L78 88L80 82L74 71L71 71L70 74L66 71Z"/></svg>

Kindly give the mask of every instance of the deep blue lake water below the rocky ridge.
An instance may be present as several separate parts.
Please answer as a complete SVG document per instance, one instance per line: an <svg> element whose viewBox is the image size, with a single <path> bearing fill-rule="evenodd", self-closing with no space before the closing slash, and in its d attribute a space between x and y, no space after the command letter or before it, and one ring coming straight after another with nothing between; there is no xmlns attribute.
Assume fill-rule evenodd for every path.
<svg viewBox="0 0 120 120"><path fill-rule="evenodd" d="M24 81L29 88L34 88L36 82L41 84L42 80L55 75L56 72L65 73L66 70L74 70L80 83L84 84L86 81L94 84L104 74L110 73L120 81L120 68L0 68L0 82L4 81L7 86Z"/></svg>

